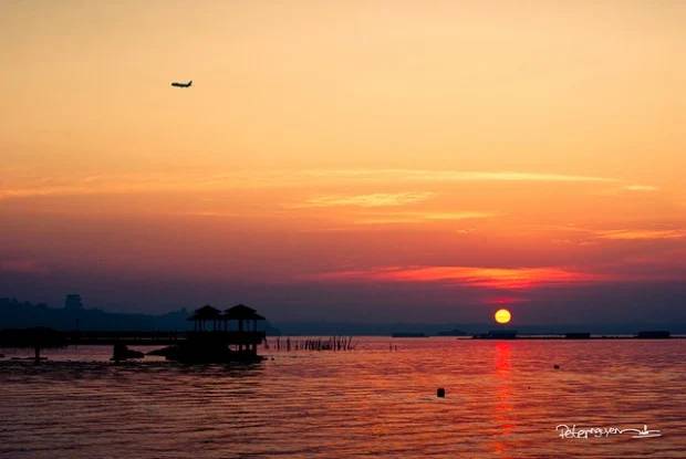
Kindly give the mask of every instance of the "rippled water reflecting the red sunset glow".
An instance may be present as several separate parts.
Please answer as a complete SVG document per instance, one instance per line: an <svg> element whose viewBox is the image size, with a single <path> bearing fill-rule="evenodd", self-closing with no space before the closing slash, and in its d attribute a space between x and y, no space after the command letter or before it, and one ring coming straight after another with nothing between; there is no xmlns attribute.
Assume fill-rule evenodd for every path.
<svg viewBox="0 0 686 459"><path fill-rule="evenodd" d="M0 457L686 457L684 340L357 342L243 368L116 366L105 347L6 358ZM663 436L561 439L560 424Z"/></svg>

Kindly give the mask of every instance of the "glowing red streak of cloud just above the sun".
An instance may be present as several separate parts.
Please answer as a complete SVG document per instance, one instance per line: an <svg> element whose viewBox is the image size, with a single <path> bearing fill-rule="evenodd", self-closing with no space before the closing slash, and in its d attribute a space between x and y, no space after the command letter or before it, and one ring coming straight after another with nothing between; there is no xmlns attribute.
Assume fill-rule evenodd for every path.
<svg viewBox="0 0 686 459"><path fill-rule="evenodd" d="M386 267L370 270L335 271L314 275L330 281L443 282L487 289L520 290L537 285L594 282L601 274L563 268L482 268L482 267Z"/></svg>

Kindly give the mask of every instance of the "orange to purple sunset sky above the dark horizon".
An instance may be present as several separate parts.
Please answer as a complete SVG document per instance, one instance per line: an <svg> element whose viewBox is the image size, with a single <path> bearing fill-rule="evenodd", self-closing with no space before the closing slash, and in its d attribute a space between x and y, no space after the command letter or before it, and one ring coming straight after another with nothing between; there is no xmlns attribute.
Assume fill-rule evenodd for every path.
<svg viewBox="0 0 686 459"><path fill-rule="evenodd" d="M685 24L682 1L3 1L0 298L684 322Z"/></svg>

